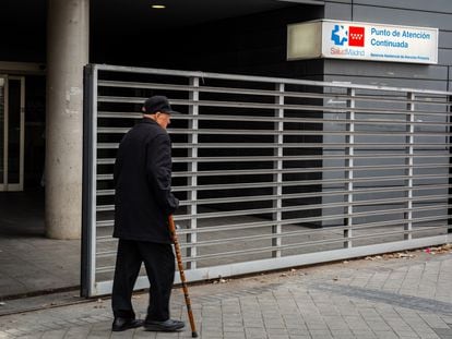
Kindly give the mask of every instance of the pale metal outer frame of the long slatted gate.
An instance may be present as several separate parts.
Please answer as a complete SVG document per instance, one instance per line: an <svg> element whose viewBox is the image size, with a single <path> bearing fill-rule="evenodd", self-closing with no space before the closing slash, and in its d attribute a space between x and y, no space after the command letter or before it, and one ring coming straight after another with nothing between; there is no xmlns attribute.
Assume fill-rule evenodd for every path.
<svg viewBox="0 0 452 339"><path fill-rule="evenodd" d="M132 72L132 73L148 73L160 75L181 75L186 77L209 77L209 78L222 78L222 80L236 80L236 81L259 81L259 82L272 82L277 84L295 84L295 85L317 85L328 87L341 87L348 88L354 92L355 89L378 89L378 90L399 90L399 92L415 92L420 94L437 94L449 95L452 93L440 90L426 90L416 88L399 88L386 86L371 86L371 85L354 85L345 83L328 83L305 81L295 78L277 78L277 77L264 77L264 76L246 76L246 75L231 75L221 73L203 73L203 72L189 72L189 71L173 71L163 69L143 69L143 68L130 68L130 66L114 66L114 65L98 65L88 64L84 69L84 137L83 137L83 203L82 203L82 261L81 261L81 295L82 296L96 296L110 293L112 281L96 282L96 157L97 157L97 80L98 71L119 71L119 72ZM349 102L353 107L354 100ZM198 107L198 106L197 106ZM449 120L450 121L450 120ZM353 144L348 152L353 153ZM353 165L353 164L352 164ZM449 178L450 182L451 178ZM349 195L353 193L349 193ZM449 199L450 203L450 199ZM451 210L451 209L449 209ZM450 216L448 216L450 218ZM449 219L451 220L451 219ZM447 227L447 226L445 226ZM353 257L361 257L367 255L374 255L380 253L404 251L412 249L419 249L424 246L431 246L443 244L452 241L452 234L433 235L419 239L406 239L403 241L380 243L374 245L366 245L353 247L349 233L344 234L343 241L345 242L344 249L331 250L317 253L298 254L290 256L278 256L277 253L272 258L259 259L252 262L241 262L227 265L218 265L214 267L197 268L193 265L193 269L187 269L186 276L188 281L202 281L209 279L216 279L218 277L240 276L245 274L255 274L261 271L269 271L275 269L283 269L288 267L305 266L318 263L334 262L341 259L347 259ZM195 238L197 234L192 237ZM192 250L195 253L195 249ZM277 250L276 250L277 251ZM176 277L176 283L179 283L179 277ZM148 287L147 277L141 276L138 278L135 289L143 289Z"/></svg>

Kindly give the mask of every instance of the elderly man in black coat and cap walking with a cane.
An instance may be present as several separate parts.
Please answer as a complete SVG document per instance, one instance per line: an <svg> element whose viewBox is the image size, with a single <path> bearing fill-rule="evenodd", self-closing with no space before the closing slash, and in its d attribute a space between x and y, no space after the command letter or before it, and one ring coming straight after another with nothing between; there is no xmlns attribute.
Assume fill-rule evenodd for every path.
<svg viewBox="0 0 452 339"><path fill-rule="evenodd" d="M112 312L114 331L144 326L153 331L177 331L183 322L169 317L175 256L168 216L179 201L171 193L171 143L166 132L175 113L164 96L143 106L143 119L122 138L115 164L115 231L119 238ZM135 318L132 291L144 263L151 283L145 320Z"/></svg>

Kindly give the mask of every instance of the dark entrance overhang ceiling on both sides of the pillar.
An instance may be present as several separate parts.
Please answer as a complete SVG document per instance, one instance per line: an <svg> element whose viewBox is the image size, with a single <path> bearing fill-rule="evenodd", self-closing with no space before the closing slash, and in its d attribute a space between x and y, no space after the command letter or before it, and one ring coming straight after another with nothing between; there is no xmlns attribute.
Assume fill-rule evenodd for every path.
<svg viewBox="0 0 452 339"><path fill-rule="evenodd" d="M2 21L21 21L33 29L43 26L46 0L1 0ZM323 4L323 0L90 0L92 24L112 23L128 29L146 24L180 27L287 8L300 3ZM153 4L165 4L153 10ZM24 11L23 9L27 10ZM94 21L94 22L93 22ZM110 27L108 27L110 28Z"/></svg>

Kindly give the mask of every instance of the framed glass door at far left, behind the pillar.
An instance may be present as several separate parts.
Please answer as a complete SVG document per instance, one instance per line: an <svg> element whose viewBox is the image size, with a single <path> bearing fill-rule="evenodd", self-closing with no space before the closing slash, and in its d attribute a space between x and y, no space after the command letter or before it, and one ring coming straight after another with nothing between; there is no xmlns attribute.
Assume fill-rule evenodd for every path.
<svg viewBox="0 0 452 339"><path fill-rule="evenodd" d="M0 76L0 191L22 191L24 178L23 76Z"/></svg>

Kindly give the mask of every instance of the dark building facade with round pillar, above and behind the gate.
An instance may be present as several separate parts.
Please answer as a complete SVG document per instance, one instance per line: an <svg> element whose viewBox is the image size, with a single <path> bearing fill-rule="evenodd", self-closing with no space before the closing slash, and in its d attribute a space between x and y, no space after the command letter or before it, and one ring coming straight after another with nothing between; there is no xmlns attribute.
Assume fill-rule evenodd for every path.
<svg viewBox="0 0 452 339"><path fill-rule="evenodd" d="M81 234L87 63L451 88L449 0L223 2L211 8L201 0L168 0L166 9L155 10L152 2L138 0L2 1L1 187L26 193L41 184L44 173L48 237ZM287 25L321 19L439 28L438 63L287 61Z"/></svg>

